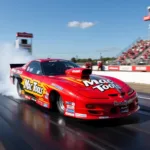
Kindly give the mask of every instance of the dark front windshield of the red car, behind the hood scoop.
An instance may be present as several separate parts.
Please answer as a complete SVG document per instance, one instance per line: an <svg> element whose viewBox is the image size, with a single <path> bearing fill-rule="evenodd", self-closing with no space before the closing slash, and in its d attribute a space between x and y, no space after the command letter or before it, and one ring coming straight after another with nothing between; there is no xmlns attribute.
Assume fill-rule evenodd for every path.
<svg viewBox="0 0 150 150"><path fill-rule="evenodd" d="M71 68L80 68L71 61L47 61L41 63L45 75L65 75L65 71Z"/></svg>

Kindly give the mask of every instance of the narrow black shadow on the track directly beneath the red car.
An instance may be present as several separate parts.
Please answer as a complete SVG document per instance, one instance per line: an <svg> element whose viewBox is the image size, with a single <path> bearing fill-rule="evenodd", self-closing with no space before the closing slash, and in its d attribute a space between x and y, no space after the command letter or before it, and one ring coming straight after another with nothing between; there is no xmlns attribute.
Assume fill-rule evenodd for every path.
<svg viewBox="0 0 150 150"><path fill-rule="evenodd" d="M124 118L119 118L119 119L103 119L103 120L81 120L81 119L75 119L67 116L61 116L56 110L50 110L47 108L44 108L42 106L37 105L33 101L27 101L27 100L17 100L12 97L9 97L10 99L13 99L15 101L19 101L20 103L28 104L34 109L37 109L41 111L42 113L45 113L48 115L50 118L56 119L57 117L62 117L66 123L73 123L73 124L83 124L83 125L88 125L92 126L95 128L103 128L103 127L117 127L117 126L122 126L122 125L131 125L131 124L140 124L143 122L147 122L150 120L150 117L144 116L139 113L132 114L131 116L124 117ZM143 107L142 107L143 108Z"/></svg>

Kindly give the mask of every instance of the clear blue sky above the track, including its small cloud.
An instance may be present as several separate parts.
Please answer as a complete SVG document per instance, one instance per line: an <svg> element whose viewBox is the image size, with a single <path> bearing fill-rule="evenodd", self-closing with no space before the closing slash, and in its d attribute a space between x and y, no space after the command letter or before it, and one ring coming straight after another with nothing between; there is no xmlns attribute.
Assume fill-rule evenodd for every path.
<svg viewBox="0 0 150 150"><path fill-rule="evenodd" d="M33 55L115 57L148 36L149 0L1 0L0 43L33 33Z"/></svg>

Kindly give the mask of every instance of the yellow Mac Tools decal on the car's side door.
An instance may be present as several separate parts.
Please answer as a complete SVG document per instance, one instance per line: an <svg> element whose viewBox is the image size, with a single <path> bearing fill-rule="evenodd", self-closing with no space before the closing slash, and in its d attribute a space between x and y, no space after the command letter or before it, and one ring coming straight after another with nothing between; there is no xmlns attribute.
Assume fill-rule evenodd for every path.
<svg viewBox="0 0 150 150"><path fill-rule="evenodd" d="M40 96L44 94L44 86L39 85L39 82L37 81L24 79L22 85L24 90L31 94L37 94Z"/></svg>

